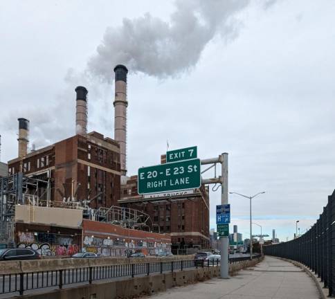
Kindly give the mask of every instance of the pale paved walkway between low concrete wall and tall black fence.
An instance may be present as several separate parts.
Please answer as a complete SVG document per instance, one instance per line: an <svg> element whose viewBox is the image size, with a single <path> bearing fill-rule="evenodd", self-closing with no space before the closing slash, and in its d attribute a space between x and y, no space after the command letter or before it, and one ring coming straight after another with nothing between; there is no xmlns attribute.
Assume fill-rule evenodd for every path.
<svg viewBox="0 0 335 299"><path fill-rule="evenodd" d="M239 271L228 280L214 278L146 298L318 299L320 295L315 282L302 269L275 257L265 257L253 269Z"/></svg>

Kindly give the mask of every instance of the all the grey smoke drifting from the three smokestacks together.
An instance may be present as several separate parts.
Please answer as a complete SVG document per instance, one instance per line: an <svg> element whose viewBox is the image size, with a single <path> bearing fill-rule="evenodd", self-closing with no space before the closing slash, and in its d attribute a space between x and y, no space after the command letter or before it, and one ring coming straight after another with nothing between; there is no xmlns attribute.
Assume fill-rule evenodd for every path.
<svg viewBox="0 0 335 299"><path fill-rule="evenodd" d="M192 70L203 49L216 35L229 42L237 37L240 22L239 12L248 6L249 0L176 0L175 11L169 21L152 17L150 13L137 19L123 19L118 28L107 28L102 43L97 47L82 72L69 70L65 77L65 87L57 95L57 102L48 109L25 109L12 111L8 122L22 115L30 119L30 145L48 145L75 134L74 88L84 85L93 96L95 105L89 105L89 115L95 107L103 107L105 114L99 114L100 125L112 127L113 111L109 96L110 82L116 64L125 64L131 72L141 72L156 78L173 78ZM264 9L275 0L262 1ZM103 84L102 84L103 82ZM108 91L108 92L107 92ZM61 111L55 117L51 111ZM19 113L19 114L18 114ZM89 127L93 118L89 116ZM91 125L90 125L91 123ZM13 124L12 124L13 125ZM10 127L16 131L17 123Z"/></svg>

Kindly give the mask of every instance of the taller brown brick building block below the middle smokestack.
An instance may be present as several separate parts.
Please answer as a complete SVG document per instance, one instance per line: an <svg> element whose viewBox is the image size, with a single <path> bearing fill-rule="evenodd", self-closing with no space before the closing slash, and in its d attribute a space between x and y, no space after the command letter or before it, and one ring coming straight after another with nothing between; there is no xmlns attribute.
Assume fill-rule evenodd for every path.
<svg viewBox="0 0 335 299"><path fill-rule="evenodd" d="M75 135L8 161L8 171L48 179L49 194L47 186L41 185L39 200L54 206L91 199L91 208L118 205L120 148L97 132Z"/></svg>

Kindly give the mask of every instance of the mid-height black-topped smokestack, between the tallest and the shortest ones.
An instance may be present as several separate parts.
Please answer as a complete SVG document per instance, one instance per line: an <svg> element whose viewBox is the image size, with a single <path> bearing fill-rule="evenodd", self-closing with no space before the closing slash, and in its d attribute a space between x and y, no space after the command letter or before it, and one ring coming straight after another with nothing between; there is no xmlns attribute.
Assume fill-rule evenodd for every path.
<svg viewBox="0 0 335 299"><path fill-rule="evenodd" d="M87 134L87 89L76 87L75 134Z"/></svg>

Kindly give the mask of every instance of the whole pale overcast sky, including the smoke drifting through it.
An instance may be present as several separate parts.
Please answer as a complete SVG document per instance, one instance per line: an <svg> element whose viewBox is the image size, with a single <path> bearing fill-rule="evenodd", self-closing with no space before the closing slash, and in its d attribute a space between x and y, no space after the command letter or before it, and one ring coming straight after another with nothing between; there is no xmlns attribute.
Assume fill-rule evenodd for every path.
<svg viewBox="0 0 335 299"><path fill-rule="evenodd" d="M305 232L335 187L335 1L1 1L1 161L75 133L77 85L89 131L114 136L112 68L128 77L128 174L170 149L229 153L229 190L263 233ZM212 174L206 174L206 177ZM249 237L248 199L230 195ZM210 193L215 227L219 191ZM255 226L255 233L260 228Z"/></svg>

